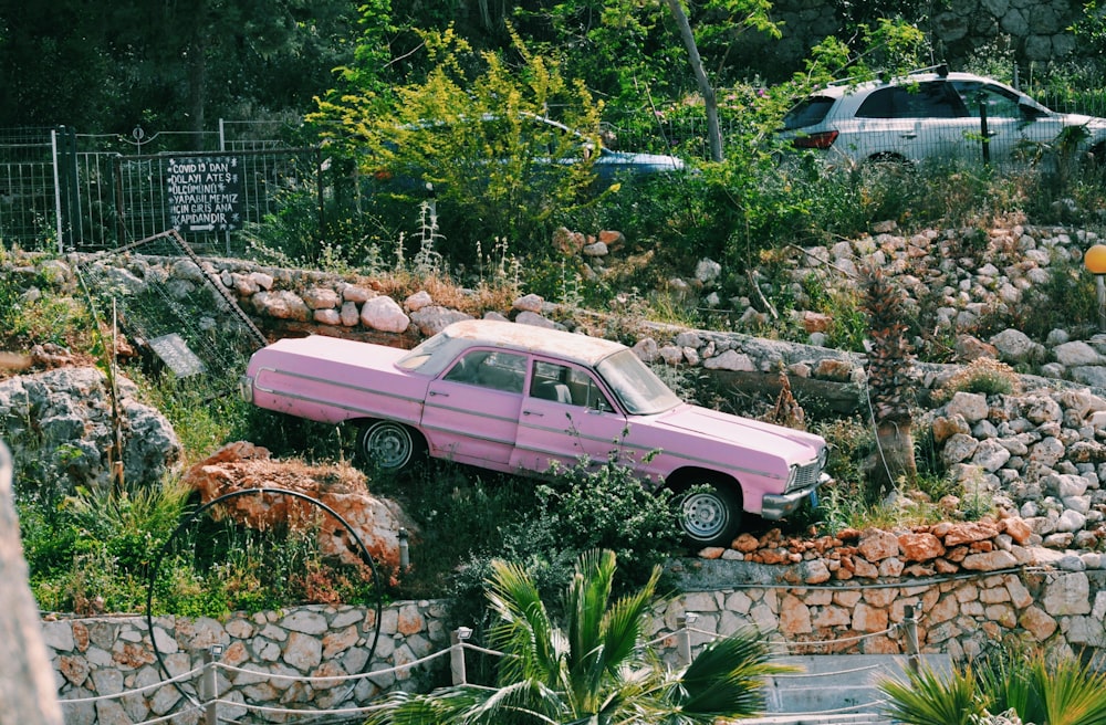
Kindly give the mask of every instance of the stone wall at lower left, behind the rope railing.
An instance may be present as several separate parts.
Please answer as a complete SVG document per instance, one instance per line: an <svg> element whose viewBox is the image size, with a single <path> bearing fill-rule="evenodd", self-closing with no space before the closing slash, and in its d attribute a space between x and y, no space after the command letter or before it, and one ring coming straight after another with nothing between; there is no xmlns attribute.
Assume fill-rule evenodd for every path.
<svg viewBox="0 0 1106 725"><path fill-rule="evenodd" d="M252 616L240 612L226 621L158 617L154 619L154 640L173 677L199 668L212 645L222 648L217 660L230 668L285 677L220 669L218 692L223 701L284 710L335 710L366 705L394 687L414 689L419 683L416 670L393 669L449 645L442 614L442 607L434 601L388 606L382 613L374 652L376 610L363 607L311 606ZM200 722L202 713L195 706L198 675L122 698L64 704L66 700L87 701L140 690L167 679L145 617L54 619L43 622L43 633L58 674L66 725L139 723L170 713L181 713L174 723ZM384 670L387 672L371 679L304 681ZM255 711L232 705L220 705L219 716L221 721L288 721L282 715L265 721Z"/></svg>

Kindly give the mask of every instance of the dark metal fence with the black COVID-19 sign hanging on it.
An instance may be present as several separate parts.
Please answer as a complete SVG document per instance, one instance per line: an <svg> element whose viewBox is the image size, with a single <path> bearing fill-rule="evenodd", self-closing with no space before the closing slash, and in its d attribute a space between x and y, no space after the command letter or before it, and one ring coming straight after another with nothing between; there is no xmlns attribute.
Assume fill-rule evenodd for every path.
<svg viewBox="0 0 1106 725"><path fill-rule="evenodd" d="M175 230L196 249L231 253L289 195L321 210L320 150L239 125L259 130L220 122L210 134L0 133L0 243L96 251Z"/></svg>

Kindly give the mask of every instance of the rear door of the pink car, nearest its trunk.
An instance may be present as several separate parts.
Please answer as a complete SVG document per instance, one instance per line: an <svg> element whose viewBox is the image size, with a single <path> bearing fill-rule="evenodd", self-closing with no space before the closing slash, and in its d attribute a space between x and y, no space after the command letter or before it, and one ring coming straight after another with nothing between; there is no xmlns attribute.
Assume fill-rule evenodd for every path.
<svg viewBox="0 0 1106 725"><path fill-rule="evenodd" d="M526 359L494 348L469 349L431 381L421 424L430 454L510 470Z"/></svg>

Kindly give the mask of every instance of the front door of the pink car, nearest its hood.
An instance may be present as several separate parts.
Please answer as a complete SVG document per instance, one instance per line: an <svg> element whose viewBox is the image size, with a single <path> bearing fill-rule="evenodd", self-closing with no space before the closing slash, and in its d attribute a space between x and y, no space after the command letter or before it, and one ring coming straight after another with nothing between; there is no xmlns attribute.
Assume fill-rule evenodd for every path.
<svg viewBox="0 0 1106 725"><path fill-rule="evenodd" d="M626 417L586 368L550 358L532 361L512 464L546 472L624 458Z"/></svg>

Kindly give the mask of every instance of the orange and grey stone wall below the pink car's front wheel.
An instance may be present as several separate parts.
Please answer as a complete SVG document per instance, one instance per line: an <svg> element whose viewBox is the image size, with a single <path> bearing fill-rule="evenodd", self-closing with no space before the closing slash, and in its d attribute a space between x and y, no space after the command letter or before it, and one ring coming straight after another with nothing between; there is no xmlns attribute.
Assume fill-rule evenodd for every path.
<svg viewBox="0 0 1106 725"><path fill-rule="evenodd" d="M680 560L689 593L662 610L727 634L752 624L791 654L898 654L907 607L924 653L971 659L1020 642L1065 654L1106 643L1102 554L1023 546L1018 518L787 539L742 535L733 549ZM700 641L701 638L700 638Z"/></svg>

